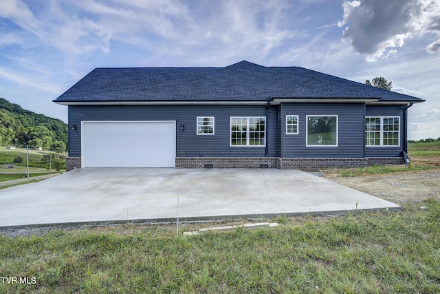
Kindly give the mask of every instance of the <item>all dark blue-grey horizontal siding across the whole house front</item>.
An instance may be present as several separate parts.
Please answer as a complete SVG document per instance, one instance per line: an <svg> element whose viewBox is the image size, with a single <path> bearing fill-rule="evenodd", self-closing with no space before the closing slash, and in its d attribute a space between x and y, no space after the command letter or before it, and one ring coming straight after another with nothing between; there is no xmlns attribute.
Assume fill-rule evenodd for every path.
<svg viewBox="0 0 440 294"><path fill-rule="evenodd" d="M267 112L267 156L283 158L397 157L404 150L402 105L283 103ZM299 116L299 134L286 134L286 115ZM306 116L338 115L338 147L306 147ZM196 134L197 116L214 116L215 134ZM265 105L69 106L69 156L81 156L81 120L175 120L177 157L263 157L265 147L230 147L230 116L266 116ZM365 147L365 116L400 116L399 147ZM72 125L77 129L72 130ZM185 125L181 131L180 125ZM278 132L278 129L281 132Z"/></svg>

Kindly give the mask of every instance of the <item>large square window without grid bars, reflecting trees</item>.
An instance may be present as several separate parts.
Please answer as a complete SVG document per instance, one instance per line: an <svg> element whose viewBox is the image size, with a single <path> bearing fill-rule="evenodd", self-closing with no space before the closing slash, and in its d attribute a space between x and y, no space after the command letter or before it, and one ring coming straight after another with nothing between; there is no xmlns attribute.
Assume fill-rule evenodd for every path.
<svg viewBox="0 0 440 294"><path fill-rule="evenodd" d="M306 146L338 146L338 116L307 116Z"/></svg>

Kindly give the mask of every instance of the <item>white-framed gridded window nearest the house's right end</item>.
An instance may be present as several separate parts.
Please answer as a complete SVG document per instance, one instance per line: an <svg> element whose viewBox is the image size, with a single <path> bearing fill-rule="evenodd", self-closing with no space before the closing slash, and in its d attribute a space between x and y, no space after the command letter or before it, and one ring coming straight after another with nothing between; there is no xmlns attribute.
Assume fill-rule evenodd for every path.
<svg viewBox="0 0 440 294"><path fill-rule="evenodd" d="M366 117L366 146L399 146L399 116Z"/></svg>

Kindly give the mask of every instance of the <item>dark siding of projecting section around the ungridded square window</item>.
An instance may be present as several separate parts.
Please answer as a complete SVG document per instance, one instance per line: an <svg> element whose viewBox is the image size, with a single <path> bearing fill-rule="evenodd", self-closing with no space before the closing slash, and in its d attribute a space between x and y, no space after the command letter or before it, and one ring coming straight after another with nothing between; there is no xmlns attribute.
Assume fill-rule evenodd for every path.
<svg viewBox="0 0 440 294"><path fill-rule="evenodd" d="M281 104L281 157L364 157L364 103ZM286 134L286 115L299 116L299 134ZM338 115L338 147L307 147L306 116Z"/></svg>

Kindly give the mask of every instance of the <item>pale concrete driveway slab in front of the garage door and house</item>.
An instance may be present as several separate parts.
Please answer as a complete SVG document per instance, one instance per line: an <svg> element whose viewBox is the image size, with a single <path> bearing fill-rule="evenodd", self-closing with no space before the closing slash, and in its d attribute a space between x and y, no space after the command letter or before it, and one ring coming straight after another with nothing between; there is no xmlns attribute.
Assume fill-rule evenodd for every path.
<svg viewBox="0 0 440 294"><path fill-rule="evenodd" d="M177 202L179 207L177 209ZM399 205L298 170L75 169L0 190L0 227L338 214Z"/></svg>

